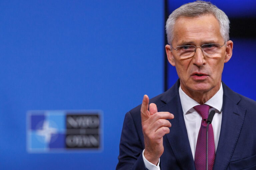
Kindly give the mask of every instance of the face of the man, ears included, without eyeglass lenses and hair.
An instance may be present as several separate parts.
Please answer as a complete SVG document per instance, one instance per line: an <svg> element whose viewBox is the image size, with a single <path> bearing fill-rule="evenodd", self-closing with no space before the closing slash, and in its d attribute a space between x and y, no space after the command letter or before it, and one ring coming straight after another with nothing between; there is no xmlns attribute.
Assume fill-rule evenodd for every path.
<svg viewBox="0 0 256 170"><path fill-rule="evenodd" d="M173 48L180 45L225 43L220 34L219 23L213 15L180 17L176 20L173 33ZM224 63L231 58L233 42L228 41L217 55L211 57L204 55L201 48L196 48L193 56L181 58L172 47L166 45L166 53L169 62L176 67L182 90L190 94L209 91L215 94L220 88Z"/></svg>

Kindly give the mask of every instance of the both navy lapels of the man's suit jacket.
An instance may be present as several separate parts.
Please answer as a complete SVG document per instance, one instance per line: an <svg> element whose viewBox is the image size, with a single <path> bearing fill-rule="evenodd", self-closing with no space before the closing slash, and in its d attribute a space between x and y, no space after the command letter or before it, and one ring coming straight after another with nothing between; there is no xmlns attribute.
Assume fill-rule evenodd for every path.
<svg viewBox="0 0 256 170"><path fill-rule="evenodd" d="M179 86L180 82L178 79L178 81L161 97L161 101L166 103L166 105L162 106L162 110L169 111L174 115L174 119L169 120L172 127L170 133L166 134L166 136L181 169L195 169L179 97ZM246 113L246 109L238 105L241 97L228 88L223 82L222 86L223 115L219 143L213 167L214 170L227 168Z"/></svg>

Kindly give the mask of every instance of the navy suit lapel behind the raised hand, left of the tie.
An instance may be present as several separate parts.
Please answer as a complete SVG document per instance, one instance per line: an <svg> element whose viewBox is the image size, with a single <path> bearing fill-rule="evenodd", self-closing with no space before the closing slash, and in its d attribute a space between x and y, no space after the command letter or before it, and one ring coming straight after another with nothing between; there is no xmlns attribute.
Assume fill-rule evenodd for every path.
<svg viewBox="0 0 256 170"><path fill-rule="evenodd" d="M161 110L174 115L174 119L169 120L172 127L166 136L181 169L195 170L178 89L179 80L161 99L166 103Z"/></svg>

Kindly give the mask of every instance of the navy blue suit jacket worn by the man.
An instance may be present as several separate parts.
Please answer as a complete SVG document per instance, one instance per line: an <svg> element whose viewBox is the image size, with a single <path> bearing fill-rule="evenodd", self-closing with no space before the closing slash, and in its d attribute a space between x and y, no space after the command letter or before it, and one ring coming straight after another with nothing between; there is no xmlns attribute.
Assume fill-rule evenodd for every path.
<svg viewBox="0 0 256 170"><path fill-rule="evenodd" d="M256 102L223 85L223 112L214 170L256 169ZM163 136L164 153L161 170L195 170L179 97L179 80L165 93L150 100L158 112L170 112L174 119L170 133ZM125 115L118 170L144 170L142 158L144 137L141 127L141 105Z"/></svg>

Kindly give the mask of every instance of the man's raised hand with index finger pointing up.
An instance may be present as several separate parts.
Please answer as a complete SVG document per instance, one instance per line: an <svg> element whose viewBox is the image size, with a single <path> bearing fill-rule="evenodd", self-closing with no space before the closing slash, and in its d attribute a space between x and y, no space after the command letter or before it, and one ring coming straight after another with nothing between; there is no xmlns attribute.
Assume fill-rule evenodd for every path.
<svg viewBox="0 0 256 170"><path fill-rule="evenodd" d="M149 98L144 95L140 110L145 142L144 156L149 162L157 165L164 152L163 136L170 132L171 127L171 123L166 119L173 119L174 116L169 112L157 112L156 104L148 104Z"/></svg>

